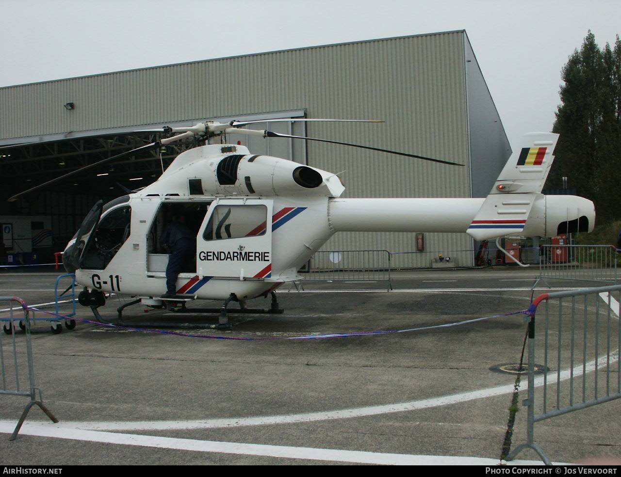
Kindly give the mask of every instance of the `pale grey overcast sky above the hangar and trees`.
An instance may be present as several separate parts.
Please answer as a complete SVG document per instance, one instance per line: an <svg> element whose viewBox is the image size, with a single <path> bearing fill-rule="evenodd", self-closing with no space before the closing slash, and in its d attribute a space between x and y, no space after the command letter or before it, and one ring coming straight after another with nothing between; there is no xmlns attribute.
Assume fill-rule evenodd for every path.
<svg viewBox="0 0 621 477"><path fill-rule="evenodd" d="M0 0L0 87L462 29L514 143L551 129L561 68L589 29L614 43L621 1Z"/></svg>

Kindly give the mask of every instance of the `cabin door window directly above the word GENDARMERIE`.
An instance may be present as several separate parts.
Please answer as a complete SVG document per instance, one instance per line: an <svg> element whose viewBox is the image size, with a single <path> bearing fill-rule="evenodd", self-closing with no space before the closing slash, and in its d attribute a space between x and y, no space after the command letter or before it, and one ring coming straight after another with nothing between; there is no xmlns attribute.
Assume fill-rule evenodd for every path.
<svg viewBox="0 0 621 477"><path fill-rule="evenodd" d="M265 205L218 205L202 238L221 240L265 235L267 215Z"/></svg>

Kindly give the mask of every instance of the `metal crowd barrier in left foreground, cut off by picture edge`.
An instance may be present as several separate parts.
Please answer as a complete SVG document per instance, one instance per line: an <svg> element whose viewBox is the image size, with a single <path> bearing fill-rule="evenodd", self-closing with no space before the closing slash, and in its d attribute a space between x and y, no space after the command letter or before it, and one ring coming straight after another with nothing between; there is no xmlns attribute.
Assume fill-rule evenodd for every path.
<svg viewBox="0 0 621 477"><path fill-rule="evenodd" d="M35 404L39 406L53 422L58 422L58 419L43 405L41 390L35 386L34 363L32 361L32 339L30 336L30 310L26 303L16 296L0 296L0 303L7 303L7 305L9 305L8 308L0 310L0 321L4 322L4 332L11 336L10 339L7 337L0 339L0 371L2 373L0 395L25 396L30 398L30 403L26 404L13 434L9 437L9 440L14 440L22 424L24 424L28 411L30 411L30 408ZM23 312L20 313L22 316L16 316L16 311L19 310ZM15 322L23 324L25 339L17 337ZM27 384L24 384L24 377ZM21 382L20 378L22 378ZM39 391L39 399L37 399L37 391Z"/></svg>

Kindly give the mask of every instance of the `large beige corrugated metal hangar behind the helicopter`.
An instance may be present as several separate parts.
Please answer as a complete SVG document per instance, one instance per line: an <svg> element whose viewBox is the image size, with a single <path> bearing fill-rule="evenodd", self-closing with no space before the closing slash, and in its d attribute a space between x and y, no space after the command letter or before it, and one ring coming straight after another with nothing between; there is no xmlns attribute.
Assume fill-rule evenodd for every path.
<svg viewBox="0 0 621 477"><path fill-rule="evenodd" d="M111 200L149 184L181 149L193 144L169 145L161 153L93 167L16 202L7 198L159 138L136 130L210 119L291 118L253 128L467 166L314 141L229 138L240 140L253 154L338 173L347 187L343 197L484 197L510 154L465 30L2 87L0 104L0 146L11 146L0 149L0 219L49 217L50 256L63 249L96 200ZM295 122L304 117L385 123ZM425 235L425 251L446 254L473 248L466 234ZM416 247L412 233L341 233L324 249L413 252ZM404 254L394 265L424 266L422 255L428 257ZM454 256L460 257L460 265L472 264L471 252Z"/></svg>

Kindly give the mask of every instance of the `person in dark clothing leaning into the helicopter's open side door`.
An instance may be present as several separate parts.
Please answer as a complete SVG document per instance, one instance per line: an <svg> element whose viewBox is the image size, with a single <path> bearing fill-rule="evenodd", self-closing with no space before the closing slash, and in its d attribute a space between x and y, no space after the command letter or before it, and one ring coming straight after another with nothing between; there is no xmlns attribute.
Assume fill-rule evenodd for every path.
<svg viewBox="0 0 621 477"><path fill-rule="evenodd" d="M175 298L177 277L183 270L194 268L196 256L196 234L185 224L184 215L173 216L163 234L160 243L170 255L166 266L166 293L161 298Z"/></svg>

